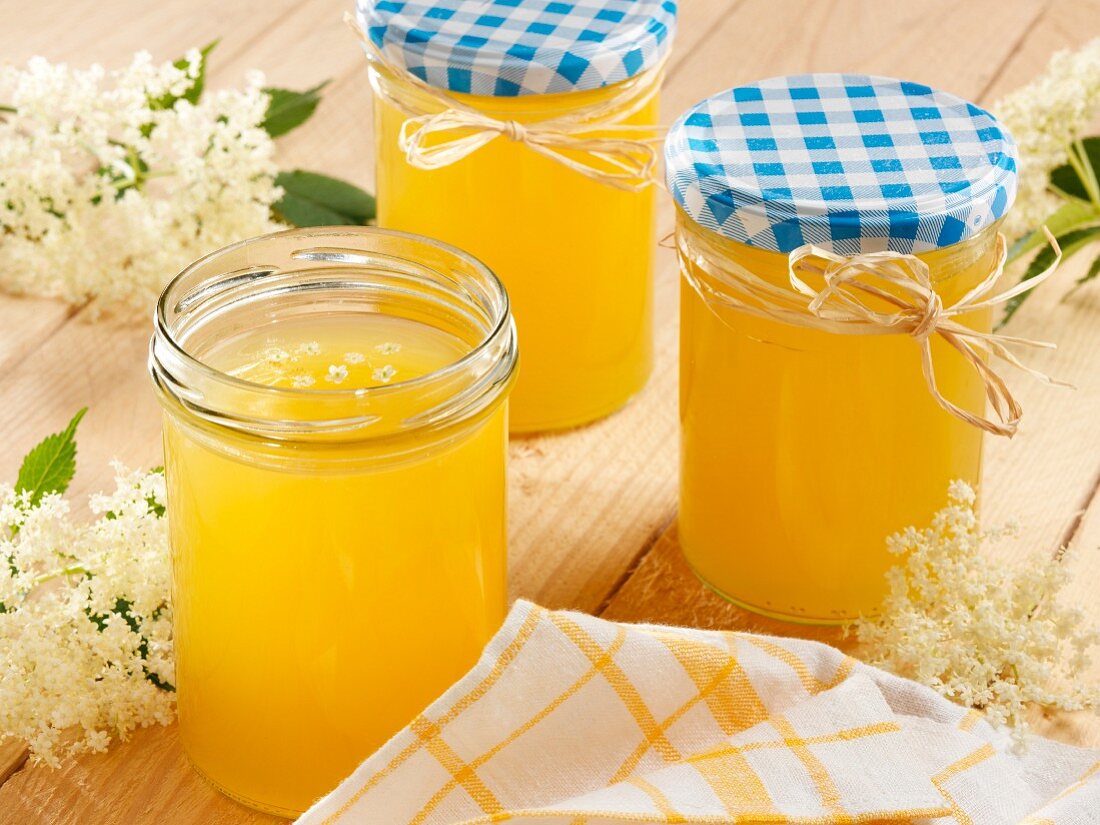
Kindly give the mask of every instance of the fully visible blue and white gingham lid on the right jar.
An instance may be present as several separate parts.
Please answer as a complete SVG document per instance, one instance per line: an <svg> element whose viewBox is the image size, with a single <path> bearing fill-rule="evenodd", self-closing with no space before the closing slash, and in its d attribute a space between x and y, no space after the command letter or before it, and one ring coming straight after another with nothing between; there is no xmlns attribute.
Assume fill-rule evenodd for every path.
<svg viewBox="0 0 1100 825"><path fill-rule="evenodd" d="M681 117L669 190L697 223L752 246L924 252L976 234L1015 197L1009 132L974 103L867 75L739 86Z"/></svg>

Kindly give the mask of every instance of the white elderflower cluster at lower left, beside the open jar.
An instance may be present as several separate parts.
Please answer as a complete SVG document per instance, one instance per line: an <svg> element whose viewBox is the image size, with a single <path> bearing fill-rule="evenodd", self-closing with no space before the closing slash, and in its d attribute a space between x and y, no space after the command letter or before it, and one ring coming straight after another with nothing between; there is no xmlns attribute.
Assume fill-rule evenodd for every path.
<svg viewBox="0 0 1100 825"><path fill-rule="evenodd" d="M164 475L116 485L90 524L0 485L0 741L55 766L174 717Z"/></svg>

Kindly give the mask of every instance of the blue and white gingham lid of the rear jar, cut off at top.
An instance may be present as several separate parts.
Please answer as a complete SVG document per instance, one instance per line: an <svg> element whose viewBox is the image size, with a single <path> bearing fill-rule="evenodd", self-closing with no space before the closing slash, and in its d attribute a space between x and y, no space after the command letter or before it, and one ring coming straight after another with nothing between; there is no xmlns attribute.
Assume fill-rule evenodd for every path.
<svg viewBox="0 0 1100 825"><path fill-rule="evenodd" d="M439 89L514 97L626 80L668 52L676 0L358 0L394 65Z"/></svg>

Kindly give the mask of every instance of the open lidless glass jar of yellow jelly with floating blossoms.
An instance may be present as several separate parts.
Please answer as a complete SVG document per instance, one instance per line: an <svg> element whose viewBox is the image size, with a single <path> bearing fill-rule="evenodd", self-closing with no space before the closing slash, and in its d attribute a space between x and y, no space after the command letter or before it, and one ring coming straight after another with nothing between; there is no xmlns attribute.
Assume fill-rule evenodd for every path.
<svg viewBox="0 0 1100 825"><path fill-rule="evenodd" d="M193 264L155 323L180 738L295 815L504 618L508 298L425 238L295 230Z"/></svg>

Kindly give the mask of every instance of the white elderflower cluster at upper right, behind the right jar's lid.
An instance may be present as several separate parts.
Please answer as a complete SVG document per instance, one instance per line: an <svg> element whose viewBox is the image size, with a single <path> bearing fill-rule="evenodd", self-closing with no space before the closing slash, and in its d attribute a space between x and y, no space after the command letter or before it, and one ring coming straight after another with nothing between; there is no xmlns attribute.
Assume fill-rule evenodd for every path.
<svg viewBox="0 0 1100 825"><path fill-rule="evenodd" d="M1004 226L1014 240L1058 207L1047 189L1050 170L1066 163L1069 145L1100 113L1100 37L1077 52L1057 52L1043 75L999 100L993 113L1020 151L1016 206Z"/></svg>

